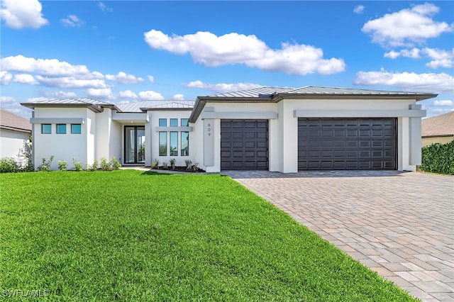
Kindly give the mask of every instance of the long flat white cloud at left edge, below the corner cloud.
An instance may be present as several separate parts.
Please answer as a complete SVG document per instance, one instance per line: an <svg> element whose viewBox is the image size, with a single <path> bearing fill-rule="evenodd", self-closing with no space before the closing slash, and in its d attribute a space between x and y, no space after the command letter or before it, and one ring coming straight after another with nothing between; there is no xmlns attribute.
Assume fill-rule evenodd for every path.
<svg viewBox="0 0 454 302"><path fill-rule="evenodd" d="M35 59L23 55L1 58L0 67L10 72L35 72L50 77L89 74L89 69L85 65L71 65L57 59Z"/></svg>

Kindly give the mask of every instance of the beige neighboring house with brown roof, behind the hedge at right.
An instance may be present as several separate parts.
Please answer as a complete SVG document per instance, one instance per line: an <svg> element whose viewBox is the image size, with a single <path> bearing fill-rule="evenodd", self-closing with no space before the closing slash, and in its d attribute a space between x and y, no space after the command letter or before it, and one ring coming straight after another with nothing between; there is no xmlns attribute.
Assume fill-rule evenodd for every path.
<svg viewBox="0 0 454 302"><path fill-rule="evenodd" d="M422 146L436 142L445 144L454 140L454 111L423 119L421 125Z"/></svg>

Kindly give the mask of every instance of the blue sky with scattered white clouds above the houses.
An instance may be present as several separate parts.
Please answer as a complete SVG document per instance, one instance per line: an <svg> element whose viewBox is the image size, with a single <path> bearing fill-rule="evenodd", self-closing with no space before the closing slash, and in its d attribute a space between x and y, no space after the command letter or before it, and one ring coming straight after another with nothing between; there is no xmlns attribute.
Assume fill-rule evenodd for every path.
<svg viewBox="0 0 454 302"><path fill-rule="evenodd" d="M439 94L454 110L453 1L2 0L0 104L195 100L257 86Z"/></svg>

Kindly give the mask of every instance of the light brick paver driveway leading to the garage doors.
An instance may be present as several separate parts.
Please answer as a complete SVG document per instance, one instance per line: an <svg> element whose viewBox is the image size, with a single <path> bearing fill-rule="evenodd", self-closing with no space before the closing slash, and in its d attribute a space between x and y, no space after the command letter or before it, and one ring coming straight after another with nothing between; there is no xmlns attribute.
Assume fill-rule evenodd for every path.
<svg viewBox="0 0 454 302"><path fill-rule="evenodd" d="M223 172L423 301L454 301L454 177Z"/></svg>

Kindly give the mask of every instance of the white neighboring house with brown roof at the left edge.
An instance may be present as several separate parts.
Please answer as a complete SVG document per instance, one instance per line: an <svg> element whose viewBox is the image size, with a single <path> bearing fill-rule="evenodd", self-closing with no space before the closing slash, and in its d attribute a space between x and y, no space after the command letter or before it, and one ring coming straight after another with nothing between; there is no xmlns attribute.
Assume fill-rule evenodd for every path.
<svg viewBox="0 0 454 302"><path fill-rule="evenodd" d="M28 147L31 123L27 118L0 108L0 158L13 157L23 162L23 152Z"/></svg>

